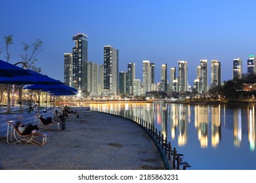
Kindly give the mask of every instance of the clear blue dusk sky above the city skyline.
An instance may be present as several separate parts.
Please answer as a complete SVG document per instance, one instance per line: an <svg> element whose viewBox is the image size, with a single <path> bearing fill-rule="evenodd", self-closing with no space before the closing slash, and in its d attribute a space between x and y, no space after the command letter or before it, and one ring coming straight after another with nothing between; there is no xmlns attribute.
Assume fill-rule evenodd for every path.
<svg viewBox="0 0 256 183"><path fill-rule="evenodd" d="M103 63L103 46L119 50L119 72L135 63L142 79L142 61L156 64L156 82L161 64L171 67L188 61L188 82L193 84L200 59L222 64L223 80L232 79L232 60L246 61L256 54L254 0L1 0L0 45L13 35L10 63L20 61L22 42L44 43L37 57L42 73L64 80L64 53L72 53L72 36L88 36L88 61ZM0 55L5 60L5 53Z"/></svg>

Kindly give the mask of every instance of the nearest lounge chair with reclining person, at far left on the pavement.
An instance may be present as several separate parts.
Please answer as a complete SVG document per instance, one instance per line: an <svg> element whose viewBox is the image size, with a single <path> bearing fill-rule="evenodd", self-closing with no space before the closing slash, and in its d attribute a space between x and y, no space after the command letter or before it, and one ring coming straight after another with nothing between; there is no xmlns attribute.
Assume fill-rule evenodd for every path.
<svg viewBox="0 0 256 183"><path fill-rule="evenodd" d="M16 127L16 122L9 121L7 122L7 143L15 144L20 143L32 143L36 146L43 146L49 139L46 133L36 132L28 135L23 135L20 133Z"/></svg>

